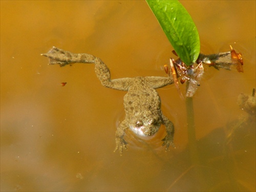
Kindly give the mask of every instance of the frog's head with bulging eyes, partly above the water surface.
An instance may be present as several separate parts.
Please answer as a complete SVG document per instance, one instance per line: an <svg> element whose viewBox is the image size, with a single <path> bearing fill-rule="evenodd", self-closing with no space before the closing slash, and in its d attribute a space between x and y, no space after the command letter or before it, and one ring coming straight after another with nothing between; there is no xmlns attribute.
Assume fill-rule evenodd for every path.
<svg viewBox="0 0 256 192"><path fill-rule="evenodd" d="M130 129L139 136L152 136L159 130L161 120L157 116L132 117L129 123Z"/></svg>

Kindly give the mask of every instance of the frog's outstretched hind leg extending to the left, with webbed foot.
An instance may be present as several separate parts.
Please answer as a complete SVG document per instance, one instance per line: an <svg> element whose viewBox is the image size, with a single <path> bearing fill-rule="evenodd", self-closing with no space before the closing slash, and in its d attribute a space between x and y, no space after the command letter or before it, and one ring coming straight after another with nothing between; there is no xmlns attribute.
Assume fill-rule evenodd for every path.
<svg viewBox="0 0 256 192"><path fill-rule="evenodd" d="M98 57L87 53L71 53L56 47L53 47L48 53L41 54L48 57L49 65L58 64L60 67L71 65L73 63L94 63L95 73L102 85L108 88L127 91L132 84L132 78L110 79L110 70L105 63Z"/></svg>

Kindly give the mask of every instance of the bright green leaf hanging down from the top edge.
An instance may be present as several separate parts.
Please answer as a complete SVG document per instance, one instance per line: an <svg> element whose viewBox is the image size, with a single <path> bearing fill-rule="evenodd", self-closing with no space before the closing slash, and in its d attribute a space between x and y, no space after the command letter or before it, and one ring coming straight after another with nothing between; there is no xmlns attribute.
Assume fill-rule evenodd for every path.
<svg viewBox="0 0 256 192"><path fill-rule="evenodd" d="M187 66L192 65L200 52L200 40L197 27L189 13L177 0L146 2L178 56Z"/></svg>

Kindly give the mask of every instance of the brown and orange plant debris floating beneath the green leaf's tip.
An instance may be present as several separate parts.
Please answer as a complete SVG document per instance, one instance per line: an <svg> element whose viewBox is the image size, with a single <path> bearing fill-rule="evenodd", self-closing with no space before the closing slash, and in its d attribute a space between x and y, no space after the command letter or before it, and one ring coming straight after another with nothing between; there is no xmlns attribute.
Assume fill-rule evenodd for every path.
<svg viewBox="0 0 256 192"><path fill-rule="evenodd" d="M174 55L177 55L175 51L172 51ZM237 53L231 46L230 52L204 55L202 53L199 54L199 57L193 65L187 66L180 59L174 60L170 58L170 71L168 67L165 65L164 70L169 75L172 72L172 76L174 79L174 84L181 98L183 95L179 88L178 78L181 77L180 82L183 84L184 82L188 82L188 87L186 90L186 97L193 97L196 93L198 87L200 86L200 81L202 80L204 67L203 64L214 67L219 70L219 68L223 68L226 70L231 70L231 66L236 66L238 72L244 72L243 70L243 56L242 53Z"/></svg>

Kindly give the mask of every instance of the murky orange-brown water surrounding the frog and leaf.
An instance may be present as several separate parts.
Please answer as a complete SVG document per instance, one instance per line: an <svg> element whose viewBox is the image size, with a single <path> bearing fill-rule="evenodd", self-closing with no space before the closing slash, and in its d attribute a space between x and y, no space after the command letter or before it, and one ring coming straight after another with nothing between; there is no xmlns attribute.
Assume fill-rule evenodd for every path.
<svg viewBox="0 0 256 192"><path fill-rule="evenodd" d="M1 1L1 191L255 191L255 118L237 105L255 87L255 1L182 4L201 51L232 45L244 73L207 68L194 97L196 150L171 85L158 92L176 149L161 147L162 129L152 142L127 137L119 156L125 92L102 87L93 65L48 66L40 54L52 46L91 53L112 78L163 76L173 49L147 4Z"/></svg>

